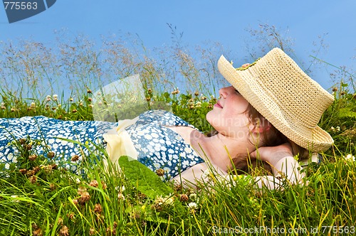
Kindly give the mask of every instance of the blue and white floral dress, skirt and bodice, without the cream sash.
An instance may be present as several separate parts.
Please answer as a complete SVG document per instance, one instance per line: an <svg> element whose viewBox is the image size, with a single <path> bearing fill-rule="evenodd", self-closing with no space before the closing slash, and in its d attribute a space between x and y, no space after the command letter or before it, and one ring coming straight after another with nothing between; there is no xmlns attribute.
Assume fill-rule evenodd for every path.
<svg viewBox="0 0 356 236"><path fill-rule="evenodd" d="M137 153L135 158L152 171L162 168L166 179L204 162L182 136L167 126L194 128L170 112L147 111L125 127L128 138L121 144L133 145ZM63 121L42 116L0 119L0 163L5 163L5 168L16 163L19 150L14 141L30 138L36 142L32 152L44 156L53 152L55 161L76 171L77 165L71 161L72 157L78 155L81 159L90 154L103 157L100 151L107 146L103 134L116 127L117 123L111 122Z"/></svg>

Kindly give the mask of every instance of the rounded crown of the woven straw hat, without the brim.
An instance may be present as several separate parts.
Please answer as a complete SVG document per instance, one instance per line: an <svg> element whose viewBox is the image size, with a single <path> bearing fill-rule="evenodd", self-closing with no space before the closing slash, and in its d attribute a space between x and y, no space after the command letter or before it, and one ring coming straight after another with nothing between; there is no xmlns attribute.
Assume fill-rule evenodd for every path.
<svg viewBox="0 0 356 236"><path fill-rule="evenodd" d="M248 70L241 71L241 75L244 73L256 78L287 117L305 127L316 127L334 100L279 48L271 50Z"/></svg>

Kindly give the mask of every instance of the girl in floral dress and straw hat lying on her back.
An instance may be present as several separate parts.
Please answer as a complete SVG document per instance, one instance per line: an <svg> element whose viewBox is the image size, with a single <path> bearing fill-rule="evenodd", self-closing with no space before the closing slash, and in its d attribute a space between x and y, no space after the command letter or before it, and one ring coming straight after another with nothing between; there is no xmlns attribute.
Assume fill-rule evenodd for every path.
<svg viewBox="0 0 356 236"><path fill-rule="evenodd" d="M220 99L206 114L214 135L206 136L162 110L118 123L1 119L0 161L8 168L16 163L12 141L29 136L43 140L44 145L34 149L38 154L51 154L50 158L77 161L95 151L96 144L103 144L112 163L130 156L152 171L162 171L164 178L184 183L204 178L209 168L222 175L234 167L246 171L256 160L271 170L271 176L256 179L258 186L276 188L278 176L298 183L303 174L294 157L308 159L310 152L324 151L333 144L331 136L318 127L333 96L278 48L237 69L221 56L218 67L232 86L219 90ZM67 165L75 171L74 164Z"/></svg>

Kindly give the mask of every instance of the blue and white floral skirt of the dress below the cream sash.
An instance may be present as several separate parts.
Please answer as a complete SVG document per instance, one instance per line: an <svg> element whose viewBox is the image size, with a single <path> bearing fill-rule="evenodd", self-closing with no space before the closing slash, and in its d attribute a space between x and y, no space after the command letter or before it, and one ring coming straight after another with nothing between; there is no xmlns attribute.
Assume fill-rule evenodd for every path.
<svg viewBox="0 0 356 236"><path fill-rule="evenodd" d="M99 156L100 145L105 148L103 134L113 126L109 122L63 121L43 116L0 119L0 163L5 163L5 168L16 163L19 149L14 141L29 138L33 141L31 152L44 156L53 152L55 161L75 172L77 164L71 158L78 155L76 163L80 163L83 156Z"/></svg>

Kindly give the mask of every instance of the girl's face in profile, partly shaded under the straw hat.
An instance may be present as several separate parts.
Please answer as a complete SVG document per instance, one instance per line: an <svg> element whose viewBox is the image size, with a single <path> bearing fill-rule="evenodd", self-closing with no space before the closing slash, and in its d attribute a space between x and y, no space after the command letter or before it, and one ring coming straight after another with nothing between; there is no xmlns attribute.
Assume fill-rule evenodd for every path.
<svg viewBox="0 0 356 236"><path fill-rule="evenodd" d="M251 132L253 125L246 115L247 100L232 86L221 88L219 94L220 99L206 114L206 120L220 134L231 138L248 139L248 133Z"/></svg>

